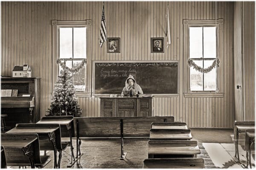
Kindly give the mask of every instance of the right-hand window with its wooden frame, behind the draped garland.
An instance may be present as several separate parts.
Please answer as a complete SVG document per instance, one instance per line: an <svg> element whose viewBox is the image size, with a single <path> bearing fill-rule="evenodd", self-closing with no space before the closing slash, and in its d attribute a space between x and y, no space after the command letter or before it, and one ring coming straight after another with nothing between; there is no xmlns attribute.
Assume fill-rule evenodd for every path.
<svg viewBox="0 0 256 170"><path fill-rule="evenodd" d="M183 20L184 96L223 94L223 23L223 19ZM192 59L201 68L208 68L216 58L220 61L219 67L208 73L188 65L188 60ZM214 94L209 94L211 92Z"/></svg>

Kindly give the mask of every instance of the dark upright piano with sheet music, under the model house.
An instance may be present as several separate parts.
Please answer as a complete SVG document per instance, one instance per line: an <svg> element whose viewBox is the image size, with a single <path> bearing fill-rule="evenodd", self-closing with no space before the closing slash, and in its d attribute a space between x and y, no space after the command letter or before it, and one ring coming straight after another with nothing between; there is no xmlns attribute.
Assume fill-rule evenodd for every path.
<svg viewBox="0 0 256 170"><path fill-rule="evenodd" d="M18 90L17 96L1 96L1 114L7 114L6 130L16 123L35 123L40 119L40 78L1 77L1 90ZM23 96L25 94L26 96Z"/></svg>

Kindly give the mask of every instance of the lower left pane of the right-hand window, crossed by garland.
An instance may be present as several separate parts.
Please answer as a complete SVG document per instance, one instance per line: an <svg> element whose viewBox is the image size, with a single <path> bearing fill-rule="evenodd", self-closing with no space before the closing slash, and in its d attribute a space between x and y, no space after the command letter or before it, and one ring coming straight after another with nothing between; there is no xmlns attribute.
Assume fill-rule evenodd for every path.
<svg viewBox="0 0 256 170"><path fill-rule="evenodd" d="M203 61L194 61L196 65L203 67ZM190 68L190 90L203 91L203 74Z"/></svg>

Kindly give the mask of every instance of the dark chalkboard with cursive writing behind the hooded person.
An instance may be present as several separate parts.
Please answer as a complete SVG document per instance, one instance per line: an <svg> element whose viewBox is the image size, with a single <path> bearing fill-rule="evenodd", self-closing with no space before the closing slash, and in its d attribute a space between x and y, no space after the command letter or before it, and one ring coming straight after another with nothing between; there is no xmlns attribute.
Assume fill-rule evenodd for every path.
<svg viewBox="0 0 256 170"><path fill-rule="evenodd" d="M178 93L178 62L95 62L94 94L121 94L130 74L144 94Z"/></svg>

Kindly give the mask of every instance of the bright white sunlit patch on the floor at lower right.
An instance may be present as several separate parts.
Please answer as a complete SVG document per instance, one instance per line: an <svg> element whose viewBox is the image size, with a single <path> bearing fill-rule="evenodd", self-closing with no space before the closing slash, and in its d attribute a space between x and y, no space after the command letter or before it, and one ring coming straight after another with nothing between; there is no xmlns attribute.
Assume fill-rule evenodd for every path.
<svg viewBox="0 0 256 170"><path fill-rule="evenodd" d="M241 168L219 143L203 143L205 150L216 167Z"/></svg>

